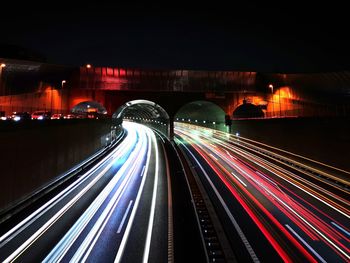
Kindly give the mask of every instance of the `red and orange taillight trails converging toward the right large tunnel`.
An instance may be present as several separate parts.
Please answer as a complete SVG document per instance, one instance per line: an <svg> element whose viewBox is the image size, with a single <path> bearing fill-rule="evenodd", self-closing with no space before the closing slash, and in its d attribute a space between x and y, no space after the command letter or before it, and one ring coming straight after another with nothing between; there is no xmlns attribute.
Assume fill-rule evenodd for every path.
<svg viewBox="0 0 350 263"><path fill-rule="evenodd" d="M311 199L311 201L313 203L316 204L317 202L321 202L334 209L335 212L339 213L337 214L337 217L344 216L346 218L350 218L349 210L339 204L339 202L341 202L348 205L349 202L346 199L340 198L333 192L330 192L329 190L326 190L315 183L311 183L308 180L301 178L300 176L297 176L276 164L272 164L271 162L264 160L262 157L258 157L248 151L244 151L232 144L226 143L226 136L225 138L220 139L216 137L208 137L204 132L201 133L201 129L198 127L196 128L196 136L192 136L192 130L183 125L175 127L175 132L187 143L189 143L192 148L195 149L195 151L209 164L211 169L215 171L216 175L219 176L227 188L230 189L235 198L239 200L240 204L245 208L246 212L252 217L252 219L254 219L254 222L259 226L260 230L264 233L276 250L281 248L274 241L274 237L264 230L264 225L260 223L259 218L255 215L257 212L250 210L249 204L245 203L241 196L245 196L249 200L252 200L255 206L260 208L260 212L258 214L262 213L267 216L270 222L277 226L277 229L279 229L279 231L281 231L281 233L288 240L290 240L300 250L300 252L302 252L302 254L308 258L309 261L314 261L315 259L313 256L308 254L303 246L311 251L318 258L318 260L325 260L319 253L329 254L331 251L333 251L332 253L335 253L332 257L337 255L338 259L342 258L344 261L350 260L349 238L346 236L349 233L347 228L343 227L341 224L338 225L338 223L333 223L337 222L337 220L334 220L330 215L324 213L324 211L319 209L317 205L311 204L302 196L294 193L289 185L302 190L309 197L312 197L313 199ZM216 147L212 147L213 144L216 145ZM248 146L244 146L243 148L248 149ZM275 181L270 175L266 174L262 170L256 170L255 167L248 164L246 161L241 160L241 158L232 158L233 156L230 152L234 153L235 156L242 156L245 159L250 160L255 165L258 165L259 168L263 168L263 170L266 170L272 175L284 180L287 185L285 185L285 183L281 184L282 182ZM238 171L238 174L242 175L243 178L247 180L247 186L242 184L241 179L238 177L238 174L235 171ZM233 188L232 186L234 185L235 187ZM258 193L260 196L259 199L257 199ZM327 197L325 195L327 195ZM306 197L309 198L308 196ZM261 197L263 197L265 200L263 201ZM332 200L330 198L332 198ZM268 206L261 205L262 202L266 203L266 201L269 202ZM306 207L306 205L308 207ZM273 207L277 208L278 210L272 209ZM269 212L269 210L271 210L271 212ZM296 230L293 230L288 224L283 223L286 219L282 217L282 215L286 216L287 220L290 220L290 222L293 222L293 224L298 226L298 230L303 232L313 242L322 241L324 244L327 244L331 250L322 250L317 253L315 248L312 248L312 246L308 244L305 239L301 238L299 234L295 234ZM332 223L330 223L328 220L325 221L325 219L329 219ZM294 239L285 230L283 225L288 225L288 230L290 230L297 239ZM286 254L284 254L282 251L278 252L282 258L288 260L288 256ZM326 255L330 256L328 254Z"/></svg>

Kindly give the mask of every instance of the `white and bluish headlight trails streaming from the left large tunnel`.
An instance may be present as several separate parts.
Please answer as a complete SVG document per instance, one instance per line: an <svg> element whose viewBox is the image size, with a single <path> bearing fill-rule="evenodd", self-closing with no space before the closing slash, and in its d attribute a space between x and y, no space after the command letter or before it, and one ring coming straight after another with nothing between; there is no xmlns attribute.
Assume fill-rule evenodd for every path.
<svg viewBox="0 0 350 263"><path fill-rule="evenodd" d="M66 260L66 257L71 257L70 261L73 262L85 262L89 260L97 242L100 242L100 239L105 238L102 233L111 221L112 215L115 218L120 218L118 219L120 220L118 230L114 232L115 235L122 234L121 242L116 247L115 256L115 261L119 262L124 253L136 211L140 204L145 182L149 177L148 174L152 152L155 151L156 162L154 164L153 194L150 202L151 209L148 218L145 246L143 249L143 260L144 262L148 261L154 227L155 206L157 202L159 177L158 144L154 132L143 125L125 123L125 128L128 130L128 136L115 150L103 158L103 160L96 164L90 171L79 177L66 189L62 190L45 205L39 207L25 220L20 222L19 225L1 237L2 243L0 243L0 245L5 246L22 231L26 230L33 223L36 223L41 217L49 212L51 214L42 224L36 223L37 228L31 230L33 232L30 233L30 236L18 247L15 247L14 251L9 252L3 262L13 262L20 259L20 257L25 252L28 252L29 249L32 248L32 245L44 236L53 225L61 220L63 216L78 203L78 201L83 200L85 194L87 194L94 185L96 185L96 183L107 172L109 172L110 169L112 169L112 167L114 167L113 169L117 172L114 172L114 176L112 176L104 186L101 193L98 194L91 205L79 217L59 243L51 250L48 256L44 259L44 262L62 261ZM120 167L115 166L118 162L120 163ZM133 187L136 190L134 192L135 202L133 200L128 200L128 205L125 205L126 211L123 216L118 215L118 217L116 217L117 214L120 213L117 207L119 206L119 203L122 205L121 201L123 196L126 192L131 193L131 190L127 190L131 187L129 186L131 185L131 182L133 182L132 185L134 185ZM126 202L126 200L123 202ZM61 206L56 207L58 205ZM126 227L123 232L122 229L125 224ZM78 245L78 248L74 251L72 251L73 245L74 247ZM30 253L30 251L28 253Z"/></svg>

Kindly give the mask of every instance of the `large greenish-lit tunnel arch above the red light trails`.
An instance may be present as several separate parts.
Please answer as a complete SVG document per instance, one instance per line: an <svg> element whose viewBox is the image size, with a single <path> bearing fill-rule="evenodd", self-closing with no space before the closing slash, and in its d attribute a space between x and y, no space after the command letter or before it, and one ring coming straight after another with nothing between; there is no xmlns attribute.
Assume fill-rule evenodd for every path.
<svg viewBox="0 0 350 263"><path fill-rule="evenodd" d="M220 124L225 122L225 111L214 102L197 100L183 105L175 113L174 121Z"/></svg>

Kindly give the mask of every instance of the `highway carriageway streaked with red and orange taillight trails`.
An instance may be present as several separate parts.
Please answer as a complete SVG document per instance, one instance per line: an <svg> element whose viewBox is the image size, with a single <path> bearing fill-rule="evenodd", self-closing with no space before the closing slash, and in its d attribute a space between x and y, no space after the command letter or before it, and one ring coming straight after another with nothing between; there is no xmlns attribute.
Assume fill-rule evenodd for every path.
<svg viewBox="0 0 350 263"><path fill-rule="evenodd" d="M175 123L175 134L239 262L350 261L346 176L199 126Z"/></svg>

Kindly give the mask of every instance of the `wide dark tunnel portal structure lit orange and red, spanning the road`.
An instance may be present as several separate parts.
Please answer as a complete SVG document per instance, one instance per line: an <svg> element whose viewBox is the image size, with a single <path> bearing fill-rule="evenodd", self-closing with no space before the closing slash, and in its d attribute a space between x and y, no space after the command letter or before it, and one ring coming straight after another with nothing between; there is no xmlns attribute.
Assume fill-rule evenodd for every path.
<svg viewBox="0 0 350 263"><path fill-rule="evenodd" d="M152 108L162 108L170 123L184 105L193 101L214 103L230 118L350 114L350 72L346 71L282 74L67 67L8 59L0 62L3 115L34 110L67 113L86 101L100 103L112 115L135 100L147 101L145 107L130 107L139 115L161 118L162 111L152 112ZM136 114L130 109L129 113Z"/></svg>

